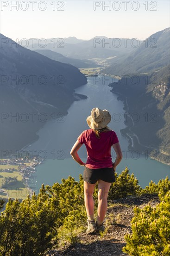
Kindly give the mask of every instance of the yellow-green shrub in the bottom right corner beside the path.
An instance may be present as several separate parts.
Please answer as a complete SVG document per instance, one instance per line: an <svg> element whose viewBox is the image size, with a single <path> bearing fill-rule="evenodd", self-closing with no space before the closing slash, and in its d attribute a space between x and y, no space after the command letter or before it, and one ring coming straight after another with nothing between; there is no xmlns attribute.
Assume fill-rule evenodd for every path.
<svg viewBox="0 0 170 256"><path fill-rule="evenodd" d="M132 235L126 234L122 251L131 256L170 255L170 191L156 208L134 208Z"/></svg>

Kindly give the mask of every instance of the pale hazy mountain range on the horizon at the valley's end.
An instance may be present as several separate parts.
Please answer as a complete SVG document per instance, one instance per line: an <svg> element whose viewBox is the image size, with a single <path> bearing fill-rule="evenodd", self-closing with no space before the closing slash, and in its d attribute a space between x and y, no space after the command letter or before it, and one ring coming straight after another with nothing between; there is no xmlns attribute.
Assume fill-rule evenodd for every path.
<svg viewBox="0 0 170 256"><path fill-rule="evenodd" d="M63 54L68 58L94 59L121 56L135 50L132 42L135 39L107 38L106 36L96 36L90 40L74 40L64 38L53 38L42 40L28 40L27 47L30 50L51 50ZM73 43L74 41L74 43ZM138 41L141 44L142 41ZM137 43L137 42L136 42ZM24 45L24 42L20 41Z"/></svg>

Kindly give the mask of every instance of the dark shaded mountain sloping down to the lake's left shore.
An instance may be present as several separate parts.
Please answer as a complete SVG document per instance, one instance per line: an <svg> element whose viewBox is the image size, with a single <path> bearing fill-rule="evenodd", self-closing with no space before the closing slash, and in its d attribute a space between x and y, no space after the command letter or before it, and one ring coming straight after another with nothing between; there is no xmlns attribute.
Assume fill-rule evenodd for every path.
<svg viewBox="0 0 170 256"><path fill-rule="evenodd" d="M78 68L21 47L2 34L0 43L0 149L15 151L38 139L36 132L44 125L40 113L44 119L52 119L54 112L67 114L77 100L74 89L87 78Z"/></svg>

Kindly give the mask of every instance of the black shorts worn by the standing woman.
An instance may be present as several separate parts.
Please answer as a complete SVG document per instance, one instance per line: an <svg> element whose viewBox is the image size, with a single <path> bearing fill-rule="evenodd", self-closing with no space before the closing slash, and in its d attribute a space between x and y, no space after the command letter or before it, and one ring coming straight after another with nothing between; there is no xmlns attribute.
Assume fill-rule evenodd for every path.
<svg viewBox="0 0 170 256"><path fill-rule="evenodd" d="M107 167L90 169L85 166L83 180L91 184L95 184L98 180L102 180L104 182L115 182L114 170L113 168Z"/></svg>

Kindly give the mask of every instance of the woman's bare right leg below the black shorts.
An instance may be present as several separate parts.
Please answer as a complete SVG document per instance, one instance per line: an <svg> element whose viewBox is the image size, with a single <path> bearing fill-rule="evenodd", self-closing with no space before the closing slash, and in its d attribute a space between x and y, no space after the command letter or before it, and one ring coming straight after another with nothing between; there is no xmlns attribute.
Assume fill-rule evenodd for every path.
<svg viewBox="0 0 170 256"><path fill-rule="evenodd" d="M98 208L97 220L103 222L107 211L107 196L110 189L110 182L98 180Z"/></svg>

